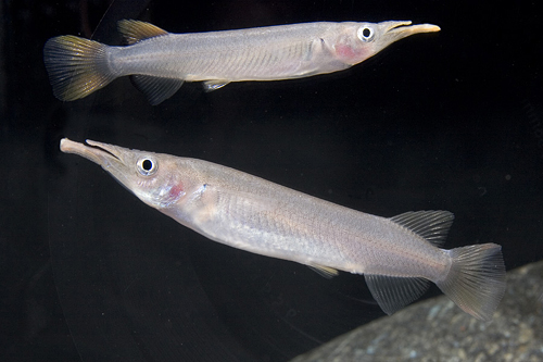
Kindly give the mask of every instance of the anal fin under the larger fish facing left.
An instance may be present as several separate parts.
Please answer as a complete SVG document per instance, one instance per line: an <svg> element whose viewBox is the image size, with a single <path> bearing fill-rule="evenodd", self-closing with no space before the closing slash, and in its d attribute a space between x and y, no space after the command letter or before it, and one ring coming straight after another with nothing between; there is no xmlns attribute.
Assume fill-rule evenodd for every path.
<svg viewBox="0 0 543 362"><path fill-rule="evenodd" d="M420 277L409 278L376 274L364 274L364 277L371 296L389 315L418 299L430 284L428 279Z"/></svg>

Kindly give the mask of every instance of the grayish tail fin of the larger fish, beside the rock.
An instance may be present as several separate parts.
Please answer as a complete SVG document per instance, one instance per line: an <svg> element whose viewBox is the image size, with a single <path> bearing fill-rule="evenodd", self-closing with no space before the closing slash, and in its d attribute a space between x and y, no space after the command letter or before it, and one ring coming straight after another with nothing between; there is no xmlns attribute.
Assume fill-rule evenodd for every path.
<svg viewBox="0 0 543 362"><path fill-rule="evenodd" d="M453 259L440 289L456 305L472 316L490 321L505 292L505 265L502 247L472 245L449 250Z"/></svg>

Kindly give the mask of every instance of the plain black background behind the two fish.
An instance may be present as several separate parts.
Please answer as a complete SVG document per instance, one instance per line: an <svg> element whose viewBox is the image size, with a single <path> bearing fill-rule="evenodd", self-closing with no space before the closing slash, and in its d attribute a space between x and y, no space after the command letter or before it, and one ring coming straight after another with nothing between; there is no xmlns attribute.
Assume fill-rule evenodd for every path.
<svg viewBox="0 0 543 362"><path fill-rule="evenodd" d="M204 159L382 216L450 210L447 248L500 244L508 270L543 258L531 2L4 0L0 15L3 361L283 361L383 315L362 276L210 241L61 153L62 137ZM388 20L442 32L332 75L186 84L159 107L127 78L55 99L45 41L118 45L121 18L173 33Z"/></svg>

